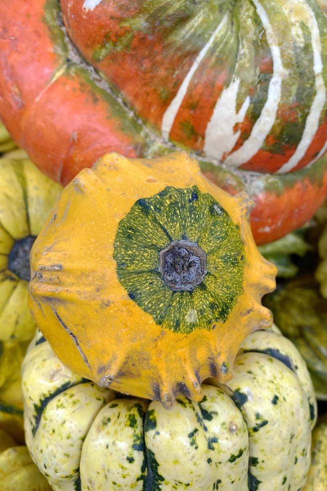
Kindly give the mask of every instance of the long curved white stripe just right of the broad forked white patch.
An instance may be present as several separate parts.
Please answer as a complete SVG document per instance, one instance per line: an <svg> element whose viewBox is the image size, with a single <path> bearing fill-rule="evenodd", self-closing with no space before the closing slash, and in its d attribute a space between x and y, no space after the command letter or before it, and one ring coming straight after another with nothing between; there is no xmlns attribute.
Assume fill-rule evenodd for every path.
<svg viewBox="0 0 327 491"><path fill-rule="evenodd" d="M268 16L258 0L252 0L256 12L265 31L266 39L271 51L273 73L269 82L267 99L261 114L255 121L251 134L243 145L228 155L225 163L231 167L238 167L250 160L261 148L276 119L276 113L280 101L282 80L287 76L281 61L277 38L273 32Z"/></svg>

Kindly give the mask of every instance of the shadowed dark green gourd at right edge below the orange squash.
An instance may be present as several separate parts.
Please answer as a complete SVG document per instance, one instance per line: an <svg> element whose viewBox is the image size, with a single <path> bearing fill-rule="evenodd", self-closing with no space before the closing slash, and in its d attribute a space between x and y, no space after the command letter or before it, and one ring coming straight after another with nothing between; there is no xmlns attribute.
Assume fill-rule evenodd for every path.
<svg viewBox="0 0 327 491"><path fill-rule="evenodd" d="M317 284L305 276L278 285L264 305L306 361L316 397L327 400L327 300L320 297Z"/></svg>

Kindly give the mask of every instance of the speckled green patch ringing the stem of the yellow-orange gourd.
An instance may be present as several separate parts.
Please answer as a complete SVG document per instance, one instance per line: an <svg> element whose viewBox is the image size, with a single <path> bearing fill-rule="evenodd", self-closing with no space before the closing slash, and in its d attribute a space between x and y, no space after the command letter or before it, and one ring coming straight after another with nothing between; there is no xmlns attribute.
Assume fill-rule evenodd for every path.
<svg viewBox="0 0 327 491"><path fill-rule="evenodd" d="M160 251L189 241L206 255L206 274L190 291L173 291L159 271ZM242 293L244 246L238 227L196 186L166 187L138 199L114 242L117 276L128 296L164 329L190 333L226 321Z"/></svg>

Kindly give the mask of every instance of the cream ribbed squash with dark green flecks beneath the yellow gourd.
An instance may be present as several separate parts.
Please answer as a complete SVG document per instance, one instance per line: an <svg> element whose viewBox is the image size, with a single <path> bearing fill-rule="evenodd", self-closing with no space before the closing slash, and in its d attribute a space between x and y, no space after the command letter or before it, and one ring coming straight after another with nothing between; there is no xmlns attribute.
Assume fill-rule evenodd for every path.
<svg viewBox="0 0 327 491"><path fill-rule="evenodd" d="M24 359L22 387L26 444L55 490L304 485L313 388L296 348L270 330L245 339L225 385L204 385L198 403L180 396L170 411L73 374L40 333Z"/></svg>

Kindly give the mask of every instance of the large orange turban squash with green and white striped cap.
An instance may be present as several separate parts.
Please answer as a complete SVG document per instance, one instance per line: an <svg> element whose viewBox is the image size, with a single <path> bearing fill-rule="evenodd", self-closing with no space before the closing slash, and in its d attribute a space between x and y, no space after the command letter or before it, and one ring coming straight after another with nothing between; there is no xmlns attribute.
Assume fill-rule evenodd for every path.
<svg viewBox="0 0 327 491"><path fill-rule="evenodd" d="M187 148L257 243L327 195L322 0L11 0L0 28L0 115L50 177Z"/></svg>

